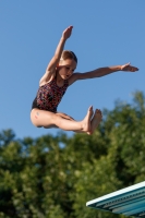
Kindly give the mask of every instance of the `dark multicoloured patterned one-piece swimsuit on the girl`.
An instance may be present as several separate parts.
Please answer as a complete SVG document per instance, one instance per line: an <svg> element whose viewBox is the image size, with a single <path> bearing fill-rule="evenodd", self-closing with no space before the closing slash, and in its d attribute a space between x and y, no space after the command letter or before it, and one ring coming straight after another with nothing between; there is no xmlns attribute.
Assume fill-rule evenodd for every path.
<svg viewBox="0 0 145 218"><path fill-rule="evenodd" d="M51 112L57 112L58 105L61 101L67 88L69 86L68 80L64 81L64 85L59 87L57 85L57 78L55 77L49 83L39 87L37 96L33 101L33 108L38 108L40 110L48 110Z"/></svg>

